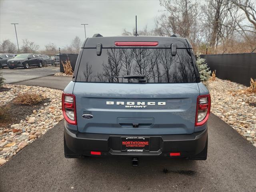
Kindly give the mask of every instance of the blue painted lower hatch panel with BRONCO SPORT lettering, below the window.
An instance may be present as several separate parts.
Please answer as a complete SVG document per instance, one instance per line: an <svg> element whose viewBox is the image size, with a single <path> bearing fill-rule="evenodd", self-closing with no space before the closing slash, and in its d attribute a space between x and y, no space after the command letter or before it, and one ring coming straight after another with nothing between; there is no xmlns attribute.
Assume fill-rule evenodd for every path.
<svg viewBox="0 0 256 192"><path fill-rule="evenodd" d="M194 132L197 84L76 82L74 95L79 132L138 135ZM93 118L83 118L83 114L91 114Z"/></svg>

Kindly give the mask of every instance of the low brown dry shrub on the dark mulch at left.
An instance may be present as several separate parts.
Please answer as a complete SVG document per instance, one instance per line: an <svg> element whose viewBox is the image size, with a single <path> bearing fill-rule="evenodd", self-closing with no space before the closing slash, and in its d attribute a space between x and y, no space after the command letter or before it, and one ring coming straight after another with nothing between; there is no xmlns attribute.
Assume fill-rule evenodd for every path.
<svg viewBox="0 0 256 192"><path fill-rule="evenodd" d="M14 104L32 105L41 102L45 97L36 93L22 93L18 94L14 100Z"/></svg>

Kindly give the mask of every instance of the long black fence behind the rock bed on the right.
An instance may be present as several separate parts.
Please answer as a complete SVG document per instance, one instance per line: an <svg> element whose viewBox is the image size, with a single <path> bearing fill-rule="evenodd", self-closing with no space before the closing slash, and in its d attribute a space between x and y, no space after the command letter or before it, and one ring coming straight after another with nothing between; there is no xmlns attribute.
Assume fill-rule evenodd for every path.
<svg viewBox="0 0 256 192"><path fill-rule="evenodd" d="M250 86L256 78L256 53L200 55L216 77Z"/></svg>

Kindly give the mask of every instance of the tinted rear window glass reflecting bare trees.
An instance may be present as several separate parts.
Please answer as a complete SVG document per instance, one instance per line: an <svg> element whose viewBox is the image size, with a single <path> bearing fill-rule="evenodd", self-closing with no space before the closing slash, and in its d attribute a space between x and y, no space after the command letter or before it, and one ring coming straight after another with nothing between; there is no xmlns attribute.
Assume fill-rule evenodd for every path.
<svg viewBox="0 0 256 192"><path fill-rule="evenodd" d="M189 49L177 49L172 56L170 48L103 48L100 56L86 48L76 81L138 83L137 78L120 78L131 75L146 76L146 83L196 82Z"/></svg>

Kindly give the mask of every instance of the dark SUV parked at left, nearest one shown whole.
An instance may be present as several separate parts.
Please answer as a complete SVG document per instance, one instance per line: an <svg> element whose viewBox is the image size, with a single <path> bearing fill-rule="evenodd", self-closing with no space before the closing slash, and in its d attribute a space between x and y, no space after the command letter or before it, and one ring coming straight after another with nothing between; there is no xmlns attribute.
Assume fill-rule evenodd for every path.
<svg viewBox="0 0 256 192"><path fill-rule="evenodd" d="M28 69L30 66L42 67L42 58L36 54L19 54L16 57L8 60L7 65L10 69L23 67Z"/></svg>

